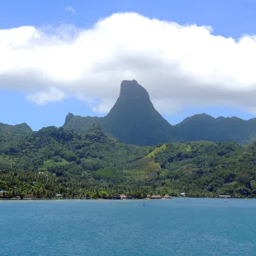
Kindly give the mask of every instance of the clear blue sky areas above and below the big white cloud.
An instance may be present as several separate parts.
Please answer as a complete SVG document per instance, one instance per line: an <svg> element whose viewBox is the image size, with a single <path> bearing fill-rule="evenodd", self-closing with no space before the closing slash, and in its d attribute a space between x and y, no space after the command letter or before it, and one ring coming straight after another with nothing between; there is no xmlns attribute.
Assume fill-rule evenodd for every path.
<svg viewBox="0 0 256 256"><path fill-rule="evenodd" d="M65 10L68 6L74 8L74 12ZM253 0L8 0L0 3L0 29L60 24L91 28L99 19L117 12L136 12L150 19L174 21L180 25L211 26L214 28L212 35L225 38L237 39L256 34L256 1ZM76 97L38 105L26 98L26 90L7 86L0 91L0 122L3 123L26 122L32 129L38 130L48 125L63 125L68 112L82 116L106 115L93 112L88 104ZM255 116L246 109L229 108L228 104L225 107L184 106L176 115L163 116L171 124L177 124L187 116L203 112L212 116L236 115L244 119Z"/></svg>

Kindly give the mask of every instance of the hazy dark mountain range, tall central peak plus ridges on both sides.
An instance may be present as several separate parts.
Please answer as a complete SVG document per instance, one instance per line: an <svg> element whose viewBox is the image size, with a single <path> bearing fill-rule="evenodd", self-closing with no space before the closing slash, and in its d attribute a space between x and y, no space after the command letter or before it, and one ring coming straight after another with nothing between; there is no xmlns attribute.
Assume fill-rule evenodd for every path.
<svg viewBox="0 0 256 256"><path fill-rule="evenodd" d="M256 140L256 118L213 118L203 113L171 125L156 111L147 90L135 80L122 81L120 96L108 115L99 118L69 113L63 128L83 134L92 124L100 124L109 136L134 145L200 140L245 145Z"/></svg>

